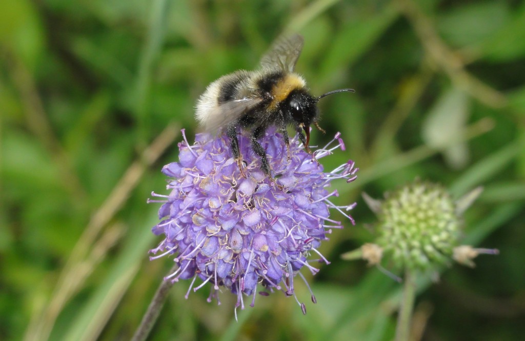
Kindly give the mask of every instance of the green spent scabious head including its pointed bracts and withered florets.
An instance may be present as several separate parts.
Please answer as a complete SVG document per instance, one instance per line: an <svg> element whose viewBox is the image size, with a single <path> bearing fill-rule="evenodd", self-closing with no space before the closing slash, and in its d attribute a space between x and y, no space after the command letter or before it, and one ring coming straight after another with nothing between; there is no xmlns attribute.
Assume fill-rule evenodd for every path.
<svg viewBox="0 0 525 341"><path fill-rule="evenodd" d="M358 253L369 264L380 263L383 255L405 270L433 270L448 265L451 259L473 266L480 253L495 254L497 250L474 249L459 245L463 212L481 193L476 189L462 199L453 200L439 184L415 181L385 194L379 201L364 194L365 202L377 214L378 234L373 244L365 244Z"/></svg>

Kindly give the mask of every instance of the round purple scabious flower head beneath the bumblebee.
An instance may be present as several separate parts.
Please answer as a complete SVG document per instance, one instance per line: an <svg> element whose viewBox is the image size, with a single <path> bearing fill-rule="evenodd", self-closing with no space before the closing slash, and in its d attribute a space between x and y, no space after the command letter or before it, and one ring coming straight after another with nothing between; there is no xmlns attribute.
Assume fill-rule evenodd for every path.
<svg viewBox="0 0 525 341"><path fill-rule="evenodd" d="M303 266L316 274L319 270L310 263L329 263L317 249L321 241L328 239L331 229L342 227L341 222L329 218L329 209L338 210L354 224L345 213L354 204L334 205L330 197L338 192L329 192L327 187L332 180L353 181L358 169L348 161L331 172L323 172L321 164L296 139L290 141L288 160L286 144L275 129L267 131L261 144L274 179L260 170L259 158L244 136L239 136L239 147L246 178L224 135L214 138L197 134L193 146L184 136L184 142L178 145L179 162L167 164L162 170L173 178L167 185L170 194L152 193L164 198L155 200L163 205L159 210L162 221L154 226L153 233L164 234L165 239L151 250L161 254L151 259L174 256L178 270L164 279L191 279L186 298L196 278L200 278L203 282L193 290L211 282L208 302L216 298L220 304L218 290L224 286L237 295L236 307L244 308L243 294L253 296L250 306L254 306L257 290L265 288L293 295L306 313L294 293L294 276L298 274L304 280L299 272ZM344 150L339 133L314 156L321 159L337 148ZM312 254L319 259L308 260ZM260 294L268 295L267 291ZM316 302L313 294L312 301Z"/></svg>

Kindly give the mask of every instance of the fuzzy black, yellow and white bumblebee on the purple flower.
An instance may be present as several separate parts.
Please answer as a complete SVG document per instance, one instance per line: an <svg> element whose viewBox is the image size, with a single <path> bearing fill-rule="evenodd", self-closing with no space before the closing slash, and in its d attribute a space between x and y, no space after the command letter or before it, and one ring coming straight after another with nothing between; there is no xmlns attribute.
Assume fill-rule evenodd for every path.
<svg viewBox="0 0 525 341"><path fill-rule="evenodd" d="M243 157L239 151L239 130L249 132L251 148L260 157L261 170L271 177L266 151L258 140L266 129L277 126L288 150L290 141L287 127L292 125L304 148L309 148L310 126L319 127L319 99L337 92L327 92L319 97L310 95L306 81L294 72L301 54L303 38L293 35L277 40L269 52L261 58L257 71L238 70L212 82L196 105L196 119L206 131L224 129L230 140L233 155L243 177ZM304 134L303 134L304 132Z"/></svg>

